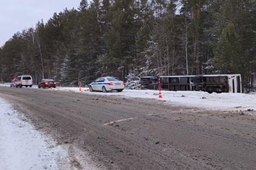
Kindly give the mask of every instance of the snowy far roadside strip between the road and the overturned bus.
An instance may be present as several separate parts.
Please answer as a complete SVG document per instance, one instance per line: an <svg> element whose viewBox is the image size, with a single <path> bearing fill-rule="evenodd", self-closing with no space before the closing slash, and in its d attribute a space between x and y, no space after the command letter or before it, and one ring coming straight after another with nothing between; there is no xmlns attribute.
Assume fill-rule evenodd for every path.
<svg viewBox="0 0 256 170"><path fill-rule="evenodd" d="M33 88L37 88L34 86ZM50 90L50 89L40 89ZM56 87L51 90L79 92L78 87ZM80 92L81 93L81 92ZM165 100L172 105L200 107L205 109L220 110L256 110L256 94L244 93L208 93L195 91L162 91L163 99L158 99L159 91L155 90L124 90L123 92L89 92L89 88L82 88L82 93L94 95L117 95L125 97L139 97Z"/></svg>

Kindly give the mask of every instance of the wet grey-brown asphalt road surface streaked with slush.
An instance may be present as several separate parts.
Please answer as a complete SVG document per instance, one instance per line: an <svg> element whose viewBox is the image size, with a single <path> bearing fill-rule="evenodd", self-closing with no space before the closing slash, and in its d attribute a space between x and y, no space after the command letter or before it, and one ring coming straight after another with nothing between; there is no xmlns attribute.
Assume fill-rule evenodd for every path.
<svg viewBox="0 0 256 170"><path fill-rule="evenodd" d="M247 112L50 89L0 87L0 97L68 145L78 169L79 157L99 169L256 169L256 118Z"/></svg>

